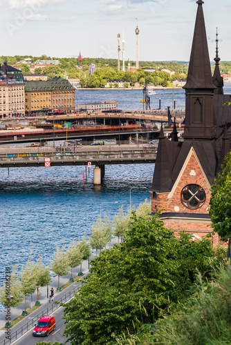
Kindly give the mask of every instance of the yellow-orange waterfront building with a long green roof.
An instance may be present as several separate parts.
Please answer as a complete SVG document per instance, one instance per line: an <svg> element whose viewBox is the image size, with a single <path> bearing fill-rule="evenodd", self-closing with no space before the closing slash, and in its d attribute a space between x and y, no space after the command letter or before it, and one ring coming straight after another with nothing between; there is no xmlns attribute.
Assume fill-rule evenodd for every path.
<svg viewBox="0 0 231 345"><path fill-rule="evenodd" d="M55 77L47 81L24 81L27 115L47 115L50 110L75 110L75 88L66 79Z"/></svg>

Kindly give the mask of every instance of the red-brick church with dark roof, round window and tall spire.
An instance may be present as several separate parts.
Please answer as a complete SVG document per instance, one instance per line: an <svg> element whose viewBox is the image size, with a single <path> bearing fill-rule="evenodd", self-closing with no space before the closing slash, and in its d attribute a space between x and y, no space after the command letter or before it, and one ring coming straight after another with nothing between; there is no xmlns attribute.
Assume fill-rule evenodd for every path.
<svg viewBox="0 0 231 345"><path fill-rule="evenodd" d="M151 214L161 210L167 228L195 238L212 233L208 213L210 188L230 151L230 95L223 95L216 37L216 69L212 77L203 1L198 0L192 52L185 84L185 130L178 141L176 124L172 139L160 130L158 153L150 190ZM163 210L164 209L164 210ZM214 246L218 236L213 236Z"/></svg>

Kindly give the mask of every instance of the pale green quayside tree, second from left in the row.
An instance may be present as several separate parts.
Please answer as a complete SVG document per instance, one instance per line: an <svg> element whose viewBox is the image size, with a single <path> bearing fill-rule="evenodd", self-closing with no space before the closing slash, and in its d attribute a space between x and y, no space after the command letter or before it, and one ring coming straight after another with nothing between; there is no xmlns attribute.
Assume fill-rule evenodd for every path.
<svg viewBox="0 0 231 345"><path fill-rule="evenodd" d="M35 268L35 263L31 262L31 257L28 258L26 262L26 266L21 266L21 273L20 273L20 280L21 280L21 290L23 295L25 296L25 310L23 315L27 315L26 311L26 297L32 295L37 288L37 272Z"/></svg>

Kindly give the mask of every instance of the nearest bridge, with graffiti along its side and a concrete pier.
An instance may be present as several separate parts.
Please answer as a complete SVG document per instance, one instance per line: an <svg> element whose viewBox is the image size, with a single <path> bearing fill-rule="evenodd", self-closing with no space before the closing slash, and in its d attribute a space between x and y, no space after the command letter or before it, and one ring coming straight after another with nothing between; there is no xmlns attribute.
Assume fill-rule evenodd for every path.
<svg viewBox="0 0 231 345"><path fill-rule="evenodd" d="M0 148L0 167L88 166L94 168L94 184L101 184L107 164L153 164L156 146L122 144L104 146L52 146Z"/></svg>

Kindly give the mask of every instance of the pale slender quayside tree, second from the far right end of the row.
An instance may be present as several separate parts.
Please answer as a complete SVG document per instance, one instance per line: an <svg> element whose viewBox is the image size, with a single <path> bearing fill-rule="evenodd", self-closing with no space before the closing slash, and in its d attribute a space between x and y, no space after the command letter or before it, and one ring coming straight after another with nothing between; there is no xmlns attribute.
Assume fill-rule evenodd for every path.
<svg viewBox="0 0 231 345"><path fill-rule="evenodd" d="M113 235L118 237L118 244L120 243L120 237L124 237L126 235L126 231L129 228L129 222L131 217L131 209L128 208L127 215L124 214L124 210L121 206L120 211L118 214L115 213L113 218Z"/></svg>

